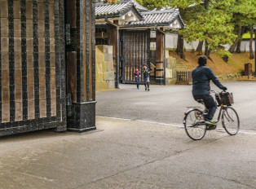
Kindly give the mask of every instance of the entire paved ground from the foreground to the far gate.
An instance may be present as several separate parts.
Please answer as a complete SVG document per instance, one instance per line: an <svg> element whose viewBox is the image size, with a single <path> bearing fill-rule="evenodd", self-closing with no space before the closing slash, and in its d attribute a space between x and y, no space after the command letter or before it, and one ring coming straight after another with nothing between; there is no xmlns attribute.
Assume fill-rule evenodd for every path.
<svg viewBox="0 0 256 189"><path fill-rule="evenodd" d="M0 189L256 188L255 83L225 85L241 117L236 136L218 125L188 138L191 86L121 85L97 93L97 130L1 137Z"/></svg>

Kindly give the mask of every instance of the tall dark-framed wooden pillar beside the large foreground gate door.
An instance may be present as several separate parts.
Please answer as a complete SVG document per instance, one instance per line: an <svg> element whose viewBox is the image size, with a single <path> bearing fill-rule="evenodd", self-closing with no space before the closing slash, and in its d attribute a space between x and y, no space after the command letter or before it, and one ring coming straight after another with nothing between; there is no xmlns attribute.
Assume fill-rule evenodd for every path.
<svg viewBox="0 0 256 189"><path fill-rule="evenodd" d="M95 127L95 0L66 0L68 130Z"/></svg>

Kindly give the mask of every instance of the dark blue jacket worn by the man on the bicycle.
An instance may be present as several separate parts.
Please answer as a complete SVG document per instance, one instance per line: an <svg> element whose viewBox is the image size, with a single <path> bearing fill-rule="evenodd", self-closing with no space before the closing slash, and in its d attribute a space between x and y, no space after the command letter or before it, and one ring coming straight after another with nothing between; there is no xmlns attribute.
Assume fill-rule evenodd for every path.
<svg viewBox="0 0 256 189"><path fill-rule="evenodd" d="M219 89L224 86L218 81L211 68L207 66L198 66L192 71L193 88L192 94L210 94L210 80L214 82Z"/></svg>

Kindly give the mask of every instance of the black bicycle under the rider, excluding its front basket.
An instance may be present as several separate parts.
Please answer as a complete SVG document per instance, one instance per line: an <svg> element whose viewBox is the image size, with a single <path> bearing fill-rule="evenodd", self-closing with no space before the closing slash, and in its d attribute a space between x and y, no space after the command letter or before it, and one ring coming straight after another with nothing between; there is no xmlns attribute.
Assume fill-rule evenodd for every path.
<svg viewBox="0 0 256 189"><path fill-rule="evenodd" d="M215 100L218 103L218 107L220 107L218 121L222 121L223 128L226 130L227 134L236 135L240 128L240 120L236 110L231 107L231 104L226 104L222 99L217 99L221 93L215 90L210 90L210 92L215 94ZM204 100L199 99L197 102L205 106ZM185 113L183 124L189 138L201 140L204 138L206 130L216 129L217 125L210 126L205 124L205 115L207 114L208 110L206 106L204 110L201 108L192 108ZM218 121L216 121L216 123L218 123Z"/></svg>

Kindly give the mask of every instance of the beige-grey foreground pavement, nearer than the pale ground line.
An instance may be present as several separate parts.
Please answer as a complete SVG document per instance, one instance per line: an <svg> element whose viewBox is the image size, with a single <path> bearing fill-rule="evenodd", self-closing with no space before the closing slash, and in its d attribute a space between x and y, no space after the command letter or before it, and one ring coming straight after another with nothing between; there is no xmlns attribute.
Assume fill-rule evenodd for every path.
<svg viewBox="0 0 256 189"><path fill-rule="evenodd" d="M99 132L0 138L0 188L256 188L256 135L97 118Z"/></svg>

